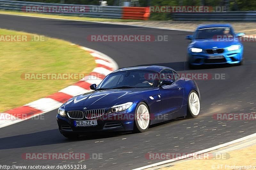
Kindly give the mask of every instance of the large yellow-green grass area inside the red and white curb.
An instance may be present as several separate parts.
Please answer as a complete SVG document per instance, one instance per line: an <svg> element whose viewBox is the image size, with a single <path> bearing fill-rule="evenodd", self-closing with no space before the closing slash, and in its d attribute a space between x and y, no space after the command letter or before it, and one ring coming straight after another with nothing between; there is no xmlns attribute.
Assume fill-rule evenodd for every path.
<svg viewBox="0 0 256 170"><path fill-rule="evenodd" d="M89 52L68 41L44 37L44 41L6 42L4 35L36 34L0 29L0 112L43 98L78 81L24 80L21 78L24 73L88 74L96 66Z"/></svg>

